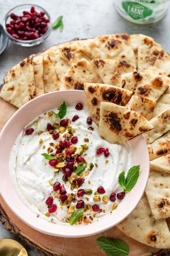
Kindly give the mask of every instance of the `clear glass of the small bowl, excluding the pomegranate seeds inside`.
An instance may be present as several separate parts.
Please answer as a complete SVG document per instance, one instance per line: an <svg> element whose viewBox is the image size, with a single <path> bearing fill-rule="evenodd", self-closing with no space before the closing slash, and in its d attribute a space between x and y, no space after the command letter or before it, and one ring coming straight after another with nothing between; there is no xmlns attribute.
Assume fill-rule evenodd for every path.
<svg viewBox="0 0 170 256"><path fill-rule="evenodd" d="M35 8L35 12L38 12L38 13L44 12L45 13L44 17L49 20L49 23L47 23L47 31L46 31L46 33L43 34L39 38L30 39L30 40L21 40L21 39L14 38L12 35L10 35L7 32L7 28L6 28L6 24L10 24L10 22L13 20L13 19L10 18L11 13L14 13L16 16L23 16L23 11L30 12L32 6L34 6L34 8ZM26 23L24 23L24 25L26 27ZM12 42L14 42L15 44L20 45L20 46L30 47L30 46L34 46L34 45L38 45L38 44L42 43L49 36L49 34L51 32L51 18L50 18L50 15L48 14L48 12L46 10L44 10L42 7L38 6L38 5L22 4L22 5L18 5L16 7L12 8L5 15L4 22L3 22L3 27L4 27L4 30L6 32L6 35L8 36L8 38ZM25 27L22 28L23 31L24 31Z"/></svg>

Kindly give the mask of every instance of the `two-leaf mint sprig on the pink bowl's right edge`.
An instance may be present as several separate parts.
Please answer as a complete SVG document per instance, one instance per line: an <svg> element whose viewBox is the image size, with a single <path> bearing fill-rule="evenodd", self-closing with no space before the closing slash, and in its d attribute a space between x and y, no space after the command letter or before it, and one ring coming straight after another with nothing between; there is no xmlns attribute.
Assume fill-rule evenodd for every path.
<svg viewBox="0 0 170 256"><path fill-rule="evenodd" d="M130 191L136 184L139 177L140 165L133 166L128 170L125 179L125 172L119 174L119 184L124 189L124 192Z"/></svg>

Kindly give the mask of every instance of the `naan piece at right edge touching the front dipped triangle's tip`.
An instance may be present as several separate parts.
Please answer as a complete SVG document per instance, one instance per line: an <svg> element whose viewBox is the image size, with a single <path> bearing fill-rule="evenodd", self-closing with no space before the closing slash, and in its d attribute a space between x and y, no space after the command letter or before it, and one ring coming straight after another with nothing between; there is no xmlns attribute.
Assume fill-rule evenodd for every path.
<svg viewBox="0 0 170 256"><path fill-rule="evenodd" d="M154 129L144 134L147 144L152 143L170 130L170 107L152 118L150 123L154 126Z"/></svg>

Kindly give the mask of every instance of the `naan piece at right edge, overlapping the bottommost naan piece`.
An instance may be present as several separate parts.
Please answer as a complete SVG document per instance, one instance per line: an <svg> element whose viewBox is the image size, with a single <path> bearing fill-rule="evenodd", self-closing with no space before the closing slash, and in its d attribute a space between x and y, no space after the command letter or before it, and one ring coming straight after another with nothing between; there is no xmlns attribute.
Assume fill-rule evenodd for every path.
<svg viewBox="0 0 170 256"><path fill-rule="evenodd" d="M170 183L169 174L156 172L150 169L148 184L146 186L145 192L148 198L148 202L152 211L153 218L155 220L165 219L170 217L169 183Z"/></svg>

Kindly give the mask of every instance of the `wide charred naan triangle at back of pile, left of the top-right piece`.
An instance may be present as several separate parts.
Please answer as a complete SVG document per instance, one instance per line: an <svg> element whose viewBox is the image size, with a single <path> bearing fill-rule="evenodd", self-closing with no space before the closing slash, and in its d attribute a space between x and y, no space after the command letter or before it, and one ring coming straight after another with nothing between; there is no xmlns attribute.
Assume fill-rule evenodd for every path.
<svg viewBox="0 0 170 256"><path fill-rule="evenodd" d="M128 34L98 36L85 42L81 51L90 59L125 60L135 67L135 55Z"/></svg>

